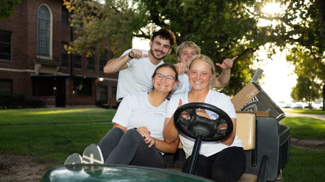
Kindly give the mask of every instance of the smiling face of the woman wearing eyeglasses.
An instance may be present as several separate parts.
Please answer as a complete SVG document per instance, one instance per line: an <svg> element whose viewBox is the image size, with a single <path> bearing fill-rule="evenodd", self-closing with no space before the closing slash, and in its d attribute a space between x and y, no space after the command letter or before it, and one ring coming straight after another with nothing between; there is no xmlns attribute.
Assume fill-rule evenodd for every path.
<svg viewBox="0 0 325 182"><path fill-rule="evenodd" d="M174 79L172 80L172 82L168 82L166 80L166 77L161 78L162 75L166 77L172 76ZM175 77L176 77L176 73L171 68L168 67L159 68L156 71L156 74L152 77L152 83L154 89L159 92L169 93L177 85Z"/></svg>

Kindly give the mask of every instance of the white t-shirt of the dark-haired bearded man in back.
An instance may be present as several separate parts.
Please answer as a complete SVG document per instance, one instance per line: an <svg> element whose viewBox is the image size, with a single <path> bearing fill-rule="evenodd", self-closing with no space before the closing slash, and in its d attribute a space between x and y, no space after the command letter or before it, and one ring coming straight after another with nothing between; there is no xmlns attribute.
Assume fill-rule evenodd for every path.
<svg viewBox="0 0 325 182"><path fill-rule="evenodd" d="M125 51L122 56L128 54L132 49ZM141 50L142 54L148 51ZM157 65L150 62L149 57L131 59L127 62L127 68L119 72L117 81L116 99L125 97L127 94L135 92L149 92L153 88L151 76L155 69L163 64L161 61Z"/></svg>

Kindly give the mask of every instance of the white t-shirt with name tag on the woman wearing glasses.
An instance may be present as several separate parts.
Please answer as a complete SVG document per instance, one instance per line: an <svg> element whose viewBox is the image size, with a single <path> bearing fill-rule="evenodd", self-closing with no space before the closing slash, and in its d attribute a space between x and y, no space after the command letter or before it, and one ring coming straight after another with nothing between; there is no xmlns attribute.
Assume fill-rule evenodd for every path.
<svg viewBox="0 0 325 182"><path fill-rule="evenodd" d="M151 137L164 140L162 130L167 103L166 99L160 106L154 107L149 102L147 92L128 94L121 101L112 122L126 127L127 130L145 126Z"/></svg>

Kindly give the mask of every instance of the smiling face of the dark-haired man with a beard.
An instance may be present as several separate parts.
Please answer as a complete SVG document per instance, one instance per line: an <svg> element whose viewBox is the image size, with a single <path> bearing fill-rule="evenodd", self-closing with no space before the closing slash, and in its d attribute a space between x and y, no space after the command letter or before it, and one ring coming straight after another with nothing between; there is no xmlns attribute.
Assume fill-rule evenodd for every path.
<svg viewBox="0 0 325 182"><path fill-rule="evenodd" d="M149 46L150 53L156 60L162 60L172 51L169 40L163 40L159 36L150 41Z"/></svg>

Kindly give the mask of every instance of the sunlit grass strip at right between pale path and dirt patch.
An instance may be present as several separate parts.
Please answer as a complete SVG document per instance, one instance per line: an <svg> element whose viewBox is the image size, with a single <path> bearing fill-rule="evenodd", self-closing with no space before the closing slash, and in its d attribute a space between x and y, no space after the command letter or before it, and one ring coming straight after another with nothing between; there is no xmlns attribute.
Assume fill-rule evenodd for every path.
<svg viewBox="0 0 325 182"><path fill-rule="evenodd" d="M282 124L290 127L290 136L295 138L325 139L325 121L308 117L282 119Z"/></svg>

